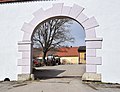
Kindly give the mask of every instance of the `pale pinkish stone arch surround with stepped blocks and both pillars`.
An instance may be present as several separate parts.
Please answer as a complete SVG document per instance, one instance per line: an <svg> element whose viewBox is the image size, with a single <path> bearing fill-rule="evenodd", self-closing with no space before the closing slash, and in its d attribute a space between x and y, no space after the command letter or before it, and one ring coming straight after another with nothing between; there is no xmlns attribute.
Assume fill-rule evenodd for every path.
<svg viewBox="0 0 120 92"><path fill-rule="evenodd" d="M66 16L78 21L85 29L86 34L86 73L83 80L100 81L101 75L97 74L97 65L101 65L102 58L96 57L96 50L102 48L102 38L96 37L95 28L98 23L94 17L88 18L82 13L83 7L74 4L72 7L64 6L63 3L53 4L47 10L40 8L33 13L34 18L29 23L24 23L21 31L24 32L22 41L18 42L18 50L22 58L18 60L18 80L26 80L31 74L31 36L35 27L42 21L55 16Z"/></svg>

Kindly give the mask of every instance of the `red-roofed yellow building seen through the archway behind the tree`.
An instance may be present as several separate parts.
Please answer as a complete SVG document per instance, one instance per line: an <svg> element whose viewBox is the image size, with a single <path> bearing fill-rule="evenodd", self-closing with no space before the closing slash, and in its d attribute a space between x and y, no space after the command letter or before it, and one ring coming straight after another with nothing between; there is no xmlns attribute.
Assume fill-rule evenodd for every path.
<svg viewBox="0 0 120 92"><path fill-rule="evenodd" d="M80 48L80 47L61 47L55 52L49 51L47 56L48 55L57 56L57 57L60 58L61 63L66 62L66 64L78 64L79 60L80 60L81 64L86 63L85 62L86 61L85 60L85 58L86 58L86 56L85 56L85 53L86 53L85 48L80 49L80 52L78 52L78 48ZM35 48L33 50L33 57L42 59L41 49Z"/></svg>

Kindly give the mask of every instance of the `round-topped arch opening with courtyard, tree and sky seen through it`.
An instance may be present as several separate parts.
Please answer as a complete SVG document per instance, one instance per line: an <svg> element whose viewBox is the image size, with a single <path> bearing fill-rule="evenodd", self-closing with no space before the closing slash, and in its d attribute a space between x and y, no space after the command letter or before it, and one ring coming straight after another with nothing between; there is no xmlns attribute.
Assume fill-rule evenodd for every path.
<svg viewBox="0 0 120 92"><path fill-rule="evenodd" d="M53 34L54 32L56 33ZM44 34L45 36L41 34ZM55 35L57 35L57 38L53 37ZM54 39L51 40L51 38ZM71 77L76 77L78 75L79 77L81 77L85 73L85 31L80 23L73 20L72 18L65 16L56 16L41 22L33 31L31 41L33 43L32 60L35 79L58 76L60 77L64 76L64 74L65 76L70 77L71 72L74 72ZM74 43L72 43L73 41ZM49 42L52 43L50 44ZM56 42L58 44L56 44ZM41 45L41 43L43 46ZM47 54L45 54L45 58L43 59L44 51L46 50L46 48L51 48L53 44L54 48L50 50L47 49ZM81 65L76 66L76 64ZM50 71L51 68L49 69L49 67L45 67L45 70L42 70L44 68L43 66L51 66L53 70L57 68L57 70L59 71ZM56 68L52 66L56 66ZM64 69L65 67L68 67L69 70L66 68L65 71L62 72L61 69ZM48 69L49 72L46 72L46 69ZM75 73L75 71L72 70L71 72L69 72L70 69L78 70L78 72ZM41 71L42 74L39 73Z"/></svg>

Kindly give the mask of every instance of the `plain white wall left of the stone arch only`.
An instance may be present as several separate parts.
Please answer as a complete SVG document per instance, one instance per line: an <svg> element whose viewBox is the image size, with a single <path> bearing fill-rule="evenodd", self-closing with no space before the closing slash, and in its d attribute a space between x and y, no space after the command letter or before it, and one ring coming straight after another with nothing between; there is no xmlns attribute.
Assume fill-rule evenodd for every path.
<svg viewBox="0 0 120 92"><path fill-rule="evenodd" d="M47 6L47 7L46 7ZM51 7L51 3L12 3L0 5L0 80L10 78L17 80L17 74L21 67L17 67L17 61L22 57L18 53L18 41L22 40L21 28L24 22L33 18L33 13L39 8Z"/></svg>

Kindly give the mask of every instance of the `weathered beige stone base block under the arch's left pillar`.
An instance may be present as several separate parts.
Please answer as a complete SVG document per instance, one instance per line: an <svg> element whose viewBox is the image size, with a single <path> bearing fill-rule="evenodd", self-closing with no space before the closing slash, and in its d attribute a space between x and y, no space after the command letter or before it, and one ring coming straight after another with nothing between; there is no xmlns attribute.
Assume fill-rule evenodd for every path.
<svg viewBox="0 0 120 92"><path fill-rule="evenodd" d="M34 80L34 74L18 74L18 81Z"/></svg>

